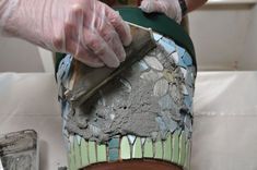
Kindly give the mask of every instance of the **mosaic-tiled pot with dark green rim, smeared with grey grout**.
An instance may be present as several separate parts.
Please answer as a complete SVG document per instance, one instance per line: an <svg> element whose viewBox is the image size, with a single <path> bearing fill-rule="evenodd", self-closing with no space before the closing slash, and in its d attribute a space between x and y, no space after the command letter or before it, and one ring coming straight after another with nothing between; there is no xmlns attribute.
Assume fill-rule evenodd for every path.
<svg viewBox="0 0 257 170"><path fill-rule="evenodd" d="M79 106L72 105L72 97L86 90L101 72L86 72L70 54L59 63L57 82L69 169L156 160L188 170L196 78L192 44L174 21L163 15L144 19L140 10L131 8L130 14L136 10L137 17L128 16L126 10L119 10L126 21L153 29L156 48L143 59ZM168 27L157 23L161 17Z"/></svg>

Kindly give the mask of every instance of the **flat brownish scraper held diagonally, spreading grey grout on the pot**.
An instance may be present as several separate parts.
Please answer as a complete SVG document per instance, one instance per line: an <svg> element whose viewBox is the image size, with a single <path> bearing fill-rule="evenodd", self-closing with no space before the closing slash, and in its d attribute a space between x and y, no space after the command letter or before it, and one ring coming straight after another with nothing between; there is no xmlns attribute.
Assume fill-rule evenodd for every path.
<svg viewBox="0 0 257 170"><path fill-rule="evenodd" d="M80 106L101 87L110 82L122 71L141 60L156 45L151 28L145 28L128 23L130 26L132 42L125 47L126 60L117 69L90 68L80 61L73 61L71 65L71 77L65 97L73 105Z"/></svg>

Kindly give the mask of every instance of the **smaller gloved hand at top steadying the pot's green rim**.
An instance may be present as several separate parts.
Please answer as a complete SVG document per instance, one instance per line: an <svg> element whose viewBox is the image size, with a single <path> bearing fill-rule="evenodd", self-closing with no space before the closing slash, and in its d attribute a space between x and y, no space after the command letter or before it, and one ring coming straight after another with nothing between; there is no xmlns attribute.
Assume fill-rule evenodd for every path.
<svg viewBox="0 0 257 170"><path fill-rule="evenodd" d="M143 0L139 8L147 13L162 12L177 23L182 22L182 8L178 0Z"/></svg>

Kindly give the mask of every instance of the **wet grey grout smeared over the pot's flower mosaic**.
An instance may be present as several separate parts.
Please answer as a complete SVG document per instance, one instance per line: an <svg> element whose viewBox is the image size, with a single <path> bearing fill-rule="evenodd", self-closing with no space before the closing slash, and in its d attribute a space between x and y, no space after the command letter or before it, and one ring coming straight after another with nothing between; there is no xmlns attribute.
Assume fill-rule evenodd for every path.
<svg viewBox="0 0 257 170"><path fill-rule="evenodd" d="M185 130L184 119L191 117L183 102L185 84L171 53L157 46L83 105L67 107L65 127L101 143L127 134L165 139L167 132Z"/></svg>

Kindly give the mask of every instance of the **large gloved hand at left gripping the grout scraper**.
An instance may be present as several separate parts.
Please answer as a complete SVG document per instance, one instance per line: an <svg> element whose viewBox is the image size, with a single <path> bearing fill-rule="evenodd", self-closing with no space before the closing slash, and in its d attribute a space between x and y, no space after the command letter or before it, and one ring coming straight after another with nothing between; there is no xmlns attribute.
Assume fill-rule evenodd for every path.
<svg viewBox="0 0 257 170"><path fill-rule="evenodd" d="M0 29L95 68L118 66L131 42L129 26L97 0L0 0Z"/></svg>

